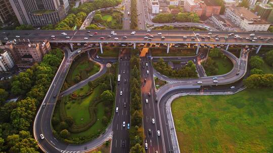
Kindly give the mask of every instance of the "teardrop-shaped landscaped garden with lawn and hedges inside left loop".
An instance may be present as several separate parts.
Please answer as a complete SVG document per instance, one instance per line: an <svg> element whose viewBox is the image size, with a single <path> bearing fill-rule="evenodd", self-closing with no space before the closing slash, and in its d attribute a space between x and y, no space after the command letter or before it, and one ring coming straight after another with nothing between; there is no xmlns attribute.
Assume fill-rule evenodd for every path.
<svg viewBox="0 0 273 153"><path fill-rule="evenodd" d="M52 118L57 138L82 144L105 131L113 116L115 93L111 91L110 76L116 80L116 71L117 64L112 64L111 74L104 74L58 101ZM112 82L112 89L115 86Z"/></svg>

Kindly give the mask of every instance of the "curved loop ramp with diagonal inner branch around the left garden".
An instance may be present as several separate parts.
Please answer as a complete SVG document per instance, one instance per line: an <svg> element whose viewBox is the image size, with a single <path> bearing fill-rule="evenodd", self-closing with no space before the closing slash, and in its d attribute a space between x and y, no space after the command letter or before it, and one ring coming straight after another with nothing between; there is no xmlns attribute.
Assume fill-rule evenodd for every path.
<svg viewBox="0 0 273 153"><path fill-rule="evenodd" d="M112 135L112 124L110 124L106 129L105 133L102 134L97 139L80 145L73 145L59 141L53 135L51 118L57 102L57 99L55 97L59 96L60 90L65 81L66 74L68 73L70 65L75 56L78 55L77 50L71 52L70 49L68 48L64 49L64 53L65 53L64 59L55 75L55 78L48 90L47 95L45 95L44 100L42 102L45 103L46 106L45 108L42 107L39 108L34 120L33 125L34 137L37 140L38 145L44 152L82 152L102 144L106 139L108 139ZM105 68L105 64L101 65L103 65L103 67L101 67L98 73L92 75L92 77L89 77L87 80L84 80L79 84L69 88L68 90L61 93L61 95L67 95L73 92L74 90L80 88L84 84L87 84L89 81L95 80L96 78L100 77L107 70ZM44 135L43 140L39 136L41 133Z"/></svg>

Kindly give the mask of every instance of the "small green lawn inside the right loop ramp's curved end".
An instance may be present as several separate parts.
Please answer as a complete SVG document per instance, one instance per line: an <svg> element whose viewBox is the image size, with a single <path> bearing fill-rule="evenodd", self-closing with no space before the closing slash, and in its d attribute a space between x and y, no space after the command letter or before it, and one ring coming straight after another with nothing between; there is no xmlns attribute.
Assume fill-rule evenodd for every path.
<svg viewBox="0 0 273 153"><path fill-rule="evenodd" d="M211 74L209 71L206 71L207 76L222 75L222 74L230 72L233 68L233 63L230 60L230 58L225 58L225 59L224 58L213 58L213 60L218 65L218 73Z"/></svg>

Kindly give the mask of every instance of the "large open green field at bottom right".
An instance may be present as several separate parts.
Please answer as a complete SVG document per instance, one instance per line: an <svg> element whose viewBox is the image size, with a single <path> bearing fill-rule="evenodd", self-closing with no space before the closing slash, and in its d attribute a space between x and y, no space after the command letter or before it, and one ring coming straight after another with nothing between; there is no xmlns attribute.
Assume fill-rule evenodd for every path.
<svg viewBox="0 0 273 153"><path fill-rule="evenodd" d="M272 152L273 90L186 96L171 104L181 152Z"/></svg>

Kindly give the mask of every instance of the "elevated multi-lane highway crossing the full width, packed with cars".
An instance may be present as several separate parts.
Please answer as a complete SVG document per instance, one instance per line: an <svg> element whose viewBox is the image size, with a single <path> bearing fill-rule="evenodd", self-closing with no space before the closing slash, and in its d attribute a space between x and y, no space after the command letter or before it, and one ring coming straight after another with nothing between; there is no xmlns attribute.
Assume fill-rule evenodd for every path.
<svg viewBox="0 0 273 153"><path fill-rule="evenodd" d="M235 39L235 35L228 36L230 32L207 32L207 31L181 31L181 30L115 30L115 35L111 35L112 30L76 30L76 31L1 31L0 40L6 41L43 41L63 42L63 43L188 43L188 44L242 44L242 45L273 45L273 35L264 32L236 32L241 39ZM67 35L62 35L66 33ZM161 34L160 34L161 33ZM250 34L255 34L255 38ZM89 36L92 35L92 36ZM16 37L17 36L17 37ZM19 38L18 38L19 36ZM54 36L54 39L52 38ZM110 37L111 36L111 37ZM126 37L124 37L126 36ZM165 39L162 39L162 36ZM210 37L208 39L208 36ZM146 38L147 37L147 38ZM184 37L184 38L183 38ZM186 38L187 37L187 38ZM216 37L219 40L216 40ZM226 39L228 38L228 39ZM260 39L262 38L262 39ZM150 40L149 40L150 39ZM251 40L252 39L252 40ZM267 40L268 39L268 42Z"/></svg>

